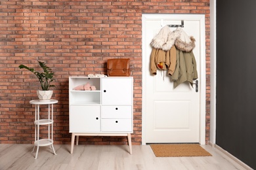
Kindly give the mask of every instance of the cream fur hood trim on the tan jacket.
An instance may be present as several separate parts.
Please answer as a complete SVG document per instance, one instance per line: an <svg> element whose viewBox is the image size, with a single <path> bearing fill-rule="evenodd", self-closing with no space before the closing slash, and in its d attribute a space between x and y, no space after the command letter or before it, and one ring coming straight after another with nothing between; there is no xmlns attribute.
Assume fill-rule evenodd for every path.
<svg viewBox="0 0 256 170"><path fill-rule="evenodd" d="M168 25L165 25L158 35L152 39L150 45L153 48L162 49L164 51L171 50L176 39L180 37L180 31L171 31Z"/></svg>

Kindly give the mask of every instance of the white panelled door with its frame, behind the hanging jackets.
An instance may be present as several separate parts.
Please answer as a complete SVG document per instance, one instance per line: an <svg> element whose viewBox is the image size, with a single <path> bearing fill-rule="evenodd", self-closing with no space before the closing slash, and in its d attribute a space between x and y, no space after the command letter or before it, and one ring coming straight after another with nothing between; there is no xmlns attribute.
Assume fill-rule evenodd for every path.
<svg viewBox="0 0 256 170"><path fill-rule="evenodd" d="M150 42L165 25L181 24L196 39L194 56L199 89L188 83L173 88L166 71L150 75ZM205 141L205 19L194 14L142 15L142 144L204 143ZM176 27L170 27L175 30Z"/></svg>

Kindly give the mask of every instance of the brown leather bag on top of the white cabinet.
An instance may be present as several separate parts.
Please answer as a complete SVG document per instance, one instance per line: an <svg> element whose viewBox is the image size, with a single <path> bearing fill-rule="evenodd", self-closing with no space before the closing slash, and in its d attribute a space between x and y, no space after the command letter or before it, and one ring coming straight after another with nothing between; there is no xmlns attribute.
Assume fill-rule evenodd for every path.
<svg viewBox="0 0 256 170"><path fill-rule="evenodd" d="M108 59L108 76L130 76L129 66L129 58Z"/></svg>

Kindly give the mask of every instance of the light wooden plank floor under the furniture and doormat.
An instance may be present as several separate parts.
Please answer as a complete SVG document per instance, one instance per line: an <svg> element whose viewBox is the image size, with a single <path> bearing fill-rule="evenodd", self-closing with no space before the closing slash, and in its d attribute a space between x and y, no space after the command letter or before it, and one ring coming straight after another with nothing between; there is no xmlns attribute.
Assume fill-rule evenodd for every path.
<svg viewBox="0 0 256 170"><path fill-rule="evenodd" d="M213 156L157 158L149 145L133 146L133 154L129 154L129 146L74 146L74 154L70 154L70 145L54 145L57 155L49 146L39 148L38 158L32 144L0 144L0 169L244 169L236 162L229 160L216 148L203 145Z"/></svg>

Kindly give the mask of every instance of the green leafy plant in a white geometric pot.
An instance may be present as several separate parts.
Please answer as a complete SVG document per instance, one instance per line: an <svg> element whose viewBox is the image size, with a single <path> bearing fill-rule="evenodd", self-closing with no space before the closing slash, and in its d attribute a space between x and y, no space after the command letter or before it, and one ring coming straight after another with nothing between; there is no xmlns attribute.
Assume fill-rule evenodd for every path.
<svg viewBox="0 0 256 170"><path fill-rule="evenodd" d="M49 89L51 87L54 87L54 85L51 84L51 82L53 82L54 80L54 73L52 69L47 67L47 65L44 62L38 61L38 63L40 67L43 69L43 72L41 73L35 71L35 69L33 68L27 67L26 65L19 65L18 67L20 69L27 69L28 71L31 71L35 76L37 76L42 88L42 90L37 90L37 95L40 100L45 101L51 99L51 96L53 95L53 90Z"/></svg>

